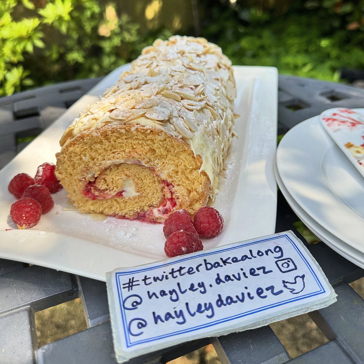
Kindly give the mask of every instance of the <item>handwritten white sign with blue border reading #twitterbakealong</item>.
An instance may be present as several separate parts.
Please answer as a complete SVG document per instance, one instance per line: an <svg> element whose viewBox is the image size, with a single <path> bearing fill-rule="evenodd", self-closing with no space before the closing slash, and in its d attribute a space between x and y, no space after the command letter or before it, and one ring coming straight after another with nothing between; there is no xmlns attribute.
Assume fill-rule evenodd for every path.
<svg viewBox="0 0 364 364"><path fill-rule="evenodd" d="M116 359L267 325L336 294L292 232L107 273Z"/></svg>

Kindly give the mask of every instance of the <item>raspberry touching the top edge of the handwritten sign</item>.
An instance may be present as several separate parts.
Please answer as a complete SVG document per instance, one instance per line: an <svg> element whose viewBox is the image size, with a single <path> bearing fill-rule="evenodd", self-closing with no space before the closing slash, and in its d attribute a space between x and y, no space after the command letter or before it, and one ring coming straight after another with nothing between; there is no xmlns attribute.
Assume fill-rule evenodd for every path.
<svg viewBox="0 0 364 364"><path fill-rule="evenodd" d="M172 233L164 245L167 257L177 257L178 255L198 252L203 249L199 237L191 232L175 231Z"/></svg>

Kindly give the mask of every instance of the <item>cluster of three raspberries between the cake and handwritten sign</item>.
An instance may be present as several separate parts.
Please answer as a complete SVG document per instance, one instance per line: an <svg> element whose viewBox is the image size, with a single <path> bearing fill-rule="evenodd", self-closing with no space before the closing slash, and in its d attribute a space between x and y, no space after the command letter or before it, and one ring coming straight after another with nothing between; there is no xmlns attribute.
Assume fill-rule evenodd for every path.
<svg viewBox="0 0 364 364"><path fill-rule="evenodd" d="M163 226L167 241L164 251L167 257L198 252L203 249L199 235L213 238L221 233L224 220L216 209L210 206L201 207L193 218L187 210L177 210L169 215Z"/></svg>

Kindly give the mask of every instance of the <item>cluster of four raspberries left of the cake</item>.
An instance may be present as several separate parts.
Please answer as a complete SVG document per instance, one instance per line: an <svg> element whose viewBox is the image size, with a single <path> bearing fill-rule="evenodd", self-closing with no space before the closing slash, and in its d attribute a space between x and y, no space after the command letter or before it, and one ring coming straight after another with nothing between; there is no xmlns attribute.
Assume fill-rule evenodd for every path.
<svg viewBox="0 0 364 364"><path fill-rule="evenodd" d="M51 193L62 189L53 163L43 163L35 177L19 173L9 183L8 190L18 201L11 205L10 216L19 229L29 229L36 225L41 214L52 209L54 201Z"/></svg>

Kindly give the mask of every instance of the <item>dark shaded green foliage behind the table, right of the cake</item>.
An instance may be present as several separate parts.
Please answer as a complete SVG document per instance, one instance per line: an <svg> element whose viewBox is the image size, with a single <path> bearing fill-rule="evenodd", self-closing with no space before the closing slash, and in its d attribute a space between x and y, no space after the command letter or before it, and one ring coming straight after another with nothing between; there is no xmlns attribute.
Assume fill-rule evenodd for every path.
<svg viewBox="0 0 364 364"><path fill-rule="evenodd" d="M244 8L245 3L210 8L202 34L234 64L274 66L282 74L331 81L339 80L340 68L364 68L364 1L295 1L285 14Z"/></svg>

